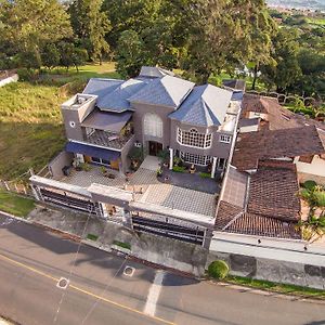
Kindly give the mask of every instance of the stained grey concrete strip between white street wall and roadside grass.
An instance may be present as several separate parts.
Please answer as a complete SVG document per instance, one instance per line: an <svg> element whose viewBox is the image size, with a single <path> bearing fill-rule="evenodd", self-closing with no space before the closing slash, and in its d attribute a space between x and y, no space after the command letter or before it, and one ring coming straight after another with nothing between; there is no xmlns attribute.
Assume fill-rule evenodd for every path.
<svg viewBox="0 0 325 325"><path fill-rule="evenodd" d="M325 266L227 252L210 252L206 266L217 259L230 265L232 275L325 289Z"/></svg>

